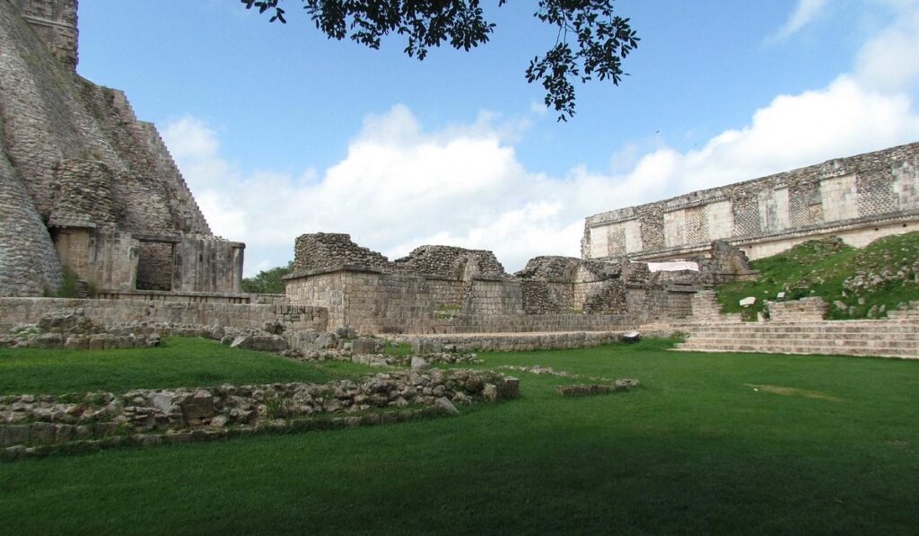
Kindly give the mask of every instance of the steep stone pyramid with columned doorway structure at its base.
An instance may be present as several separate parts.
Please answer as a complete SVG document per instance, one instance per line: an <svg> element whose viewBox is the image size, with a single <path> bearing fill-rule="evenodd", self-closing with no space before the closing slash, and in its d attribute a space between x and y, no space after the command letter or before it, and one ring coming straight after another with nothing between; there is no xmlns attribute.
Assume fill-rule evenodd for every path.
<svg viewBox="0 0 919 536"><path fill-rule="evenodd" d="M152 123L76 74L76 0L0 0L0 296L241 289Z"/></svg>

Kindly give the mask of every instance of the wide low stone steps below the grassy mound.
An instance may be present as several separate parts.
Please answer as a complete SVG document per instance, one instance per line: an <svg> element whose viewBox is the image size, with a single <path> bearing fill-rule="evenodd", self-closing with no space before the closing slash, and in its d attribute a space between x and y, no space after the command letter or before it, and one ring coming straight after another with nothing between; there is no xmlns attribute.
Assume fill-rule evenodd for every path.
<svg viewBox="0 0 919 536"><path fill-rule="evenodd" d="M919 359L919 311L898 320L706 324L678 351L827 354Z"/></svg>

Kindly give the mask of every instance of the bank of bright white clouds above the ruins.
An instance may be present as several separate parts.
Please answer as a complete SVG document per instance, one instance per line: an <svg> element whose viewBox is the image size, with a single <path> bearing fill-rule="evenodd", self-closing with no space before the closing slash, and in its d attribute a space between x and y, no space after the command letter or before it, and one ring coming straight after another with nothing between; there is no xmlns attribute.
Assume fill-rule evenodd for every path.
<svg viewBox="0 0 919 536"><path fill-rule="evenodd" d="M404 106L368 116L344 159L300 176L240 172L193 118L170 123L164 138L214 232L247 243L247 274L286 262L296 236L320 231L349 233L391 258L423 244L491 249L515 270L538 255L578 256L584 217L596 212L919 140L917 68L906 62L883 76L885 65L916 57L917 3L889 1L901 16L866 42L852 74L775 97L697 151L611 147L617 163L604 171L528 171L513 145L525 120L482 113L426 131Z"/></svg>

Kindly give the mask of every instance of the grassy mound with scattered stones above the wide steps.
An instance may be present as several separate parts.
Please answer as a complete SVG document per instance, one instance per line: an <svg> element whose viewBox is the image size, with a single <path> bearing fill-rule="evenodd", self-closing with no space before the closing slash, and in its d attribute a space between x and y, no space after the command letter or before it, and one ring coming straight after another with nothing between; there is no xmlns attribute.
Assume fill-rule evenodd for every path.
<svg viewBox="0 0 919 536"><path fill-rule="evenodd" d="M786 300L820 296L831 304L828 318L879 318L919 300L919 232L887 236L857 249L836 237L811 240L773 257L753 261L755 281L718 288L721 310L738 313L738 303L755 296L750 314L785 292Z"/></svg>

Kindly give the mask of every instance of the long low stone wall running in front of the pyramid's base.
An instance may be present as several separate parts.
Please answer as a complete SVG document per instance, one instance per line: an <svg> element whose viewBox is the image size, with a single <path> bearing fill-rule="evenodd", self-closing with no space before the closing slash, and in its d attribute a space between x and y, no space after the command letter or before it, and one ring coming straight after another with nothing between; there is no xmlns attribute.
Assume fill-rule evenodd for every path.
<svg viewBox="0 0 919 536"><path fill-rule="evenodd" d="M97 325L105 326L144 322L262 329L266 323L280 322L292 331L324 331L328 327L328 313L322 307L290 304L0 298L0 332L20 324L35 324L42 316L71 314L77 309Z"/></svg>

